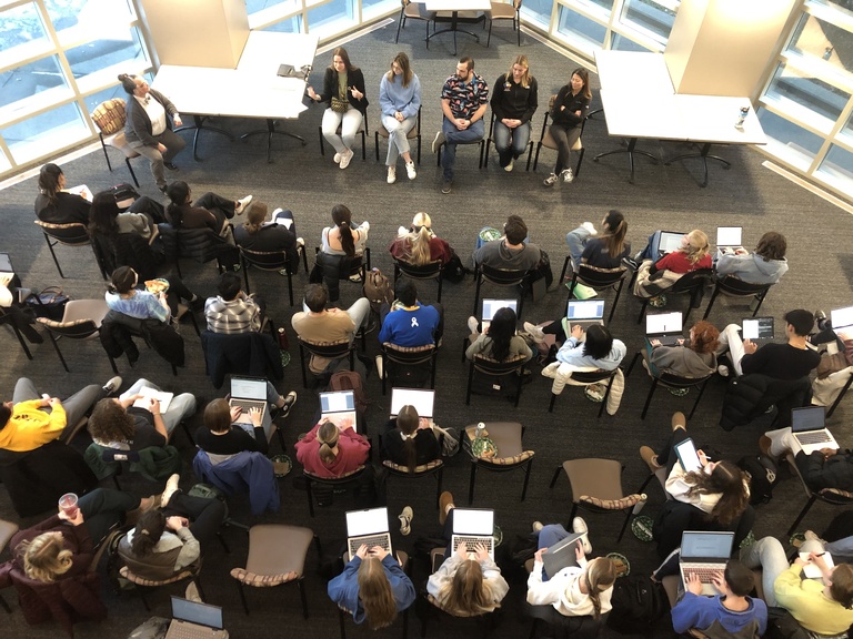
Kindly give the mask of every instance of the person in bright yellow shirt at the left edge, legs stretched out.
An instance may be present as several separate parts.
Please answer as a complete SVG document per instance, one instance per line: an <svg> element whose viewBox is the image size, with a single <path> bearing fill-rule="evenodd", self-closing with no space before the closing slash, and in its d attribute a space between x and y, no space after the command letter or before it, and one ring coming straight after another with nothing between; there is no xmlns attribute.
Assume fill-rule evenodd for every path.
<svg viewBox="0 0 853 639"><path fill-rule="evenodd" d="M120 386L121 377L113 377L103 386L90 384L61 402L47 394L39 396L32 381L21 377L14 385L12 400L0 405L0 449L29 453L63 438L67 426L73 427L96 402Z"/></svg>

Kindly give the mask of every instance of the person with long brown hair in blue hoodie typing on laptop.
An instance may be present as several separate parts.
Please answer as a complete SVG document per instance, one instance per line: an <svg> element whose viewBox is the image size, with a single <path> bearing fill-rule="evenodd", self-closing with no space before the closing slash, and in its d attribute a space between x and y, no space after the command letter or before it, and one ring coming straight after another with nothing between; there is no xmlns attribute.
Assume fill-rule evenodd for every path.
<svg viewBox="0 0 853 639"><path fill-rule="evenodd" d="M400 562L379 546L362 545L329 581L329 598L352 615L355 623L367 621L371 630L390 626L397 613L414 604L417 592Z"/></svg>

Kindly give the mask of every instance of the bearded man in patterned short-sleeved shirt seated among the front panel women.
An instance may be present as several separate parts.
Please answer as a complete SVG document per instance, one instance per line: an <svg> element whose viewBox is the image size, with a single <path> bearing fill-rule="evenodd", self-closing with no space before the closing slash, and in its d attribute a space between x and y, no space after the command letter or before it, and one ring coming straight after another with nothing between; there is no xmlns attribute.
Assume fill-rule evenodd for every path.
<svg viewBox="0 0 853 639"><path fill-rule="evenodd" d="M444 144L444 182L441 192L450 193L453 186L453 164L456 161L456 144L471 144L483 139L483 116L489 105L489 85L474 73L474 61L462 58L456 72L448 78L441 90L441 110L444 122L432 142L432 152L438 153Z"/></svg>

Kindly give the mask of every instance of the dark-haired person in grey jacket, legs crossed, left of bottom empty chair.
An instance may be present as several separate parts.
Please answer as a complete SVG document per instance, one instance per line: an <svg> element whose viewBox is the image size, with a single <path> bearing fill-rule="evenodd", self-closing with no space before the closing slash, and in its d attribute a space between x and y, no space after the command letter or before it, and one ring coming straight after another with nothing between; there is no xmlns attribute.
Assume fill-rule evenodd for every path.
<svg viewBox="0 0 853 639"><path fill-rule="evenodd" d="M136 528L119 542L119 556L132 572L152 580L168 579L195 565L201 545L210 541L225 520L219 499L191 497L172 475L159 508L143 513Z"/></svg>

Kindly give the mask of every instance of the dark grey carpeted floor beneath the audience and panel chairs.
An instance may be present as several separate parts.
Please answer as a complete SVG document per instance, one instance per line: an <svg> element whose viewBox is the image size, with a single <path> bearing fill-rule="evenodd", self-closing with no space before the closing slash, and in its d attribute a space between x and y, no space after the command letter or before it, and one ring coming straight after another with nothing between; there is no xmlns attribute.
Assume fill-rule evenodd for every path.
<svg viewBox="0 0 853 639"><path fill-rule="evenodd" d="M652 165L645 159L638 160L636 183L628 183L628 162L616 155L594 163L592 156L619 145L619 141L606 134L603 116L596 115L586 124L584 146L588 149L579 178L571 185L545 189L541 181L550 171L555 160L554 153L542 152L536 173L525 172L519 163L513 173L504 173L492 162L484 170L476 169L474 148L462 148L458 154L456 180L451 195L439 191L441 171L435 166L435 158L430 152L430 143L440 126L439 95L441 85L453 69L451 43L446 37L435 39L428 51L421 41L421 26L410 24L403 30L400 44L393 43L397 24L392 23L373 33L347 44L352 61L360 65L368 79L368 97L373 102L369 110L370 135L368 136L368 160L361 162L358 156L345 171L331 162L331 153L322 158L318 152L318 125L322 115L319 106L312 106L297 122L281 123L282 128L300 133L308 142L300 146L298 142L277 136L273 141L273 163L265 162L263 141L253 138L248 142L228 142L223 136L202 133L199 152L202 161L197 163L191 153L185 151L178 158L180 172L175 179L185 180L195 194L215 191L229 197L242 197L252 193L257 200L267 202L271 207L292 209L299 234L304 236L308 246L319 245L320 231L330 222L331 207L340 202L352 211L354 220L369 220L371 223L370 245L373 250L373 265L383 272L391 271L391 260L385 251L393 239L397 227L405 225L418 211L425 211L433 217L433 227L455 247L463 260L469 260L474 246L476 231L483 225L499 226L510 213L521 214L530 229L531 241L539 244L551 256L555 276L559 276L566 254L564 235L583 221L599 223L610 209L621 210L630 225L629 237L639 248L645 237L655 229L688 231L693 227L704 229L713 236L717 225L741 225L744 227L744 244L752 246L760 235L767 230L777 230L787 236L790 272L781 284L773 287L762 313L774 315L777 320L777 335L782 329L779 321L782 314L792 307L814 310L850 305L853 281L853 261L846 243L833 239L853 235L853 219L833 207L825 201L799 189L775 173L762 166L763 156L750 149L723 148L715 150L732 161L732 169L722 170L711 165L711 179L706 189L700 189L701 166L695 161L676 163L671 166ZM538 78L540 103L546 104L548 97L568 82L575 64L536 41L530 36L522 38L522 47L515 45L515 36L509 29L495 27L492 37L494 44L490 49L461 36L460 55L470 54L476 61L476 72L485 77L491 84L505 72L518 53L530 58L531 72ZM423 87L423 148L422 162L418 178L409 182L399 171L397 184L385 183L383 162L374 162L372 131L378 122L378 87L381 73L387 71L393 54L407 51L413 68L420 75ZM320 55L311 82L319 87L322 82L322 69L330 61L330 53ZM595 81L593 80L595 88ZM228 90L223 88L223 90ZM593 99L593 108L599 105ZM180 108L180 104L178 105ZM653 105L642 104L639 109ZM543 109L533 121L533 139L538 140L542 125ZM234 134L257 128L258 122L229 120L217 122ZM188 140L190 136L188 135ZM641 143L659 156L668 158L684 151L680 144L646 141ZM329 148L327 148L329 151ZM384 145L380 149L384 159ZM69 184L87 184L93 192L129 180L129 175L119 164L112 173L106 171L100 150L79 160L68 162L63 171ZM159 195L154 189L145 163L134 163L141 179L141 192ZM61 284L67 293L76 298L102 295L101 282L93 256L89 248L56 248L67 278L61 280L51 261L48 247L34 224L32 224L32 201L37 193L36 180L27 180L0 193L0 217L3 222L3 241L0 250L11 254L17 271L27 286L41 288ZM215 285L215 268L183 262L184 281L202 296L212 295ZM270 303L272 316L278 326L290 331L292 308L287 301L287 283L277 274L250 272L252 291L263 294ZM301 290L307 282L304 273L295 277L295 286ZM343 284L343 302L352 302L359 295L357 285ZM421 300L431 301L435 294L432 283L421 287ZM490 290L499 293L499 290ZM626 490L638 488L646 476L644 464L638 456L642 444L659 445L669 433L670 415L674 410L688 412L694 402L694 395L676 398L669 393L658 392L652 402L649 416L640 419L640 412L650 388L649 377L635 369L626 379L622 406L615 416L605 415L596 418L598 405L588 402L579 389L569 388L558 399L553 414L546 412L550 400L550 381L539 376L533 367L534 379L524 387L518 409L505 400L474 396L471 405L464 404L464 390L468 366L460 363L459 347L466 335L465 320L471 314L474 284L469 278L461 284L445 284L442 303L446 310L446 329L444 346L440 352L436 377L438 403L435 419L444 426L462 427L478 420L516 419L526 427L525 446L536 452L531 474L526 500L519 500L522 474L480 473L476 484L476 507L495 509L498 525L504 531L506 544L512 544L518 535L525 535L530 524L535 520L565 523L571 509L571 490L565 478L560 478L553 489L549 483L554 469L565 459L575 457L609 457L619 459L624 465L623 485ZM524 304L523 320L545 321L559 317L564 311L566 292L563 287L550 293L543 301ZM612 295L608 295L609 304ZM679 308L676 304L673 307ZM642 345L642 333L636 324L640 304L628 292L619 301L610 327L613 334L623 339L632 357ZM699 318L693 314L691 321ZM737 305L722 300L717 302L710 317L719 327L731 322L740 322L747 315L745 305ZM139 363L130 368L127 362L120 363L124 377L124 387L138 377L147 377L169 389L192 392L202 405L218 396L204 374L203 357L199 338L189 325L183 325L185 339L187 367L172 377L169 367L153 352L143 351ZM368 339L368 353L378 353L375 334ZM291 332L292 337L292 332ZM292 339L291 339L292 342ZM14 381L28 376L36 381L40 389L54 395L66 396L90 382L103 382L110 377L109 362L97 342L62 344L71 373L64 373L56 353L48 344L34 346L34 359L28 361L13 336L4 336L6 365L0 374L0 389L4 397L11 395ZM285 369L285 377L279 384L282 392L291 388L300 393L299 403L292 416L283 424L285 440L291 447L299 433L311 427L311 419L318 402L312 392L301 388L301 377L297 352L291 347L294 361ZM725 383L714 378L689 423L691 435L701 444L721 450L725 457L737 459L746 453L757 449L756 442L767 419L762 419L749 427L724 433L719 426L720 404ZM368 413L370 434L384 423L388 415L388 397L381 394L375 378L368 381L368 392L372 405ZM849 435L842 425L850 420L851 408L841 406L830 422L842 445L849 443ZM197 415L192 427L201 424ZM84 447L84 437L74 445ZM179 433L175 445L187 460L182 486L194 483L190 470L193 448ZM278 444L273 444L278 452ZM298 473L294 473L298 474ZM799 483L783 470L783 480L776 488L773 500L760 507L755 525L755 535L782 535L805 503ZM452 490L459 501L464 503L470 475L469 460L460 455L450 460L444 473L444 486ZM129 489L139 494L150 494L158 487L144 480L130 479ZM649 486L649 504L645 513L654 515L663 503L663 493L656 485ZM291 478L281 481L281 511L253 518L240 498L230 500L232 516L248 524L289 523L311 527L324 542L332 547L334 540L344 534L343 511L352 506L349 499L338 499L329 508L319 508L317 517L308 514L305 495L292 486ZM413 550L419 536L439 534L436 509L434 507L434 486L431 480L404 484L391 479L388 491L388 506L395 523L395 515L404 505L414 508L413 532L410 537L394 536L394 541L402 549ZM803 528L821 530L832 517L833 510L825 505L815 505L806 517ZM19 520L11 509L4 490L0 491L0 517ZM33 524L39 518L21 521L23 526ZM646 572L654 566L654 546L635 539L628 532L621 544L616 536L622 517L616 515L589 515L591 540L595 555L619 550L632 565L632 570ZM325 582L317 574L319 564L317 554L309 554L305 587L309 591L310 619L300 615L299 596L295 588L252 590L248 594L251 616L247 617L237 597L235 586L229 576L231 568L243 565L247 552L245 535L238 529L228 529L224 536L231 547L225 554L219 545L205 548L205 562L202 581L209 601L224 607L227 627L232 637L330 637L338 632L338 619L334 606L325 596ZM524 575L518 570L508 570L511 590L503 607L500 627L494 637L518 637L530 631L530 623L521 616L521 602L524 598ZM420 586L428 572L415 564L414 581ZM7 600L13 600L7 591ZM104 599L110 607L109 618L101 625L81 625L78 637L123 637L133 627L149 617L139 598L133 594L116 595L104 588ZM158 592L152 597L155 608L153 613L168 616L168 597ZM14 636L56 637L61 633L52 623L41 627L26 625L17 604L12 604L13 613L3 617ZM418 629L414 616L410 619L410 635ZM367 635L365 628L354 629L351 622L347 627L350 635ZM398 622L390 629L378 632L379 636L397 636L401 626ZM445 623L441 628L432 627L432 636L439 632L448 637L462 637L466 632L464 625ZM655 632L662 636L664 630ZM10 635L11 636L11 635Z"/></svg>

